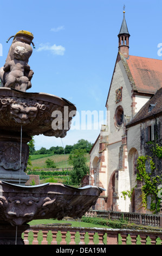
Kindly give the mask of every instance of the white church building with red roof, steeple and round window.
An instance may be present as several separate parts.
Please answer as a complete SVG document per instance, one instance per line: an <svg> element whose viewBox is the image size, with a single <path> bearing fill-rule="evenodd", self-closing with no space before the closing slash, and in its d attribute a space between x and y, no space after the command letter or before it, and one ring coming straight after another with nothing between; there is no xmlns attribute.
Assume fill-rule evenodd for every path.
<svg viewBox="0 0 162 256"><path fill-rule="evenodd" d="M137 159L162 129L162 60L129 55L129 32L124 17L118 54L106 100L107 125L90 150L89 185L105 188L95 210L150 213L141 207ZM132 191L132 200L124 196Z"/></svg>

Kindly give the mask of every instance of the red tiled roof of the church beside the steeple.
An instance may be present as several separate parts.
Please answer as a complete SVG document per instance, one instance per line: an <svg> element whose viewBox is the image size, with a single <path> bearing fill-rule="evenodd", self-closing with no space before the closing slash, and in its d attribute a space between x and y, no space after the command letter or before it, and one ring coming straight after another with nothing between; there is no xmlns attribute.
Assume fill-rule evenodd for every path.
<svg viewBox="0 0 162 256"><path fill-rule="evenodd" d="M154 94L162 87L162 60L129 56L126 61L138 92Z"/></svg>

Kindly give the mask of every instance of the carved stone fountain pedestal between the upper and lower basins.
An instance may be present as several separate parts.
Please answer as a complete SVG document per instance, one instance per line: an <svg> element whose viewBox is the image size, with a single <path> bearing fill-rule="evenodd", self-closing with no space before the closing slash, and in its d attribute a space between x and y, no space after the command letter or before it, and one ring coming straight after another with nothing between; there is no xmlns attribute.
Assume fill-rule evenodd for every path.
<svg viewBox="0 0 162 256"><path fill-rule="evenodd" d="M21 133L0 131L0 180L13 184L22 184L28 181L25 173L29 157L27 143L31 137Z"/></svg>

